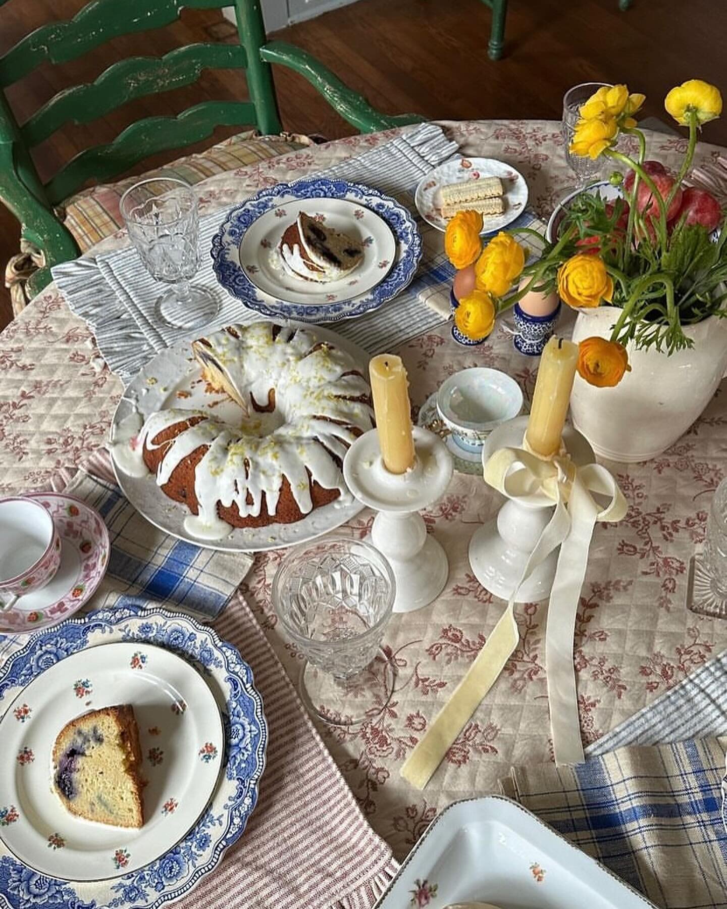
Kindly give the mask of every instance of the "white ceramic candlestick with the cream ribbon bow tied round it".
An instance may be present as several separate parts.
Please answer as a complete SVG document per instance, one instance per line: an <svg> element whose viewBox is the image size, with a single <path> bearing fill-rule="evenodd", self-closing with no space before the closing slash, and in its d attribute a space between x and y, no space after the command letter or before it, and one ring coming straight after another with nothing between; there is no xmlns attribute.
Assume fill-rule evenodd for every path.
<svg viewBox="0 0 727 909"><path fill-rule="evenodd" d="M517 416L493 430L483 447L483 465L500 448L523 447L528 419ZM570 426L563 429L563 445L576 466L595 461L591 445ZM470 541L470 565L485 590L503 600L510 599L554 508L553 500L542 492L525 500L508 499L492 521L475 531ZM515 603L537 603L550 595L558 553L556 549L534 569L520 587Z"/></svg>

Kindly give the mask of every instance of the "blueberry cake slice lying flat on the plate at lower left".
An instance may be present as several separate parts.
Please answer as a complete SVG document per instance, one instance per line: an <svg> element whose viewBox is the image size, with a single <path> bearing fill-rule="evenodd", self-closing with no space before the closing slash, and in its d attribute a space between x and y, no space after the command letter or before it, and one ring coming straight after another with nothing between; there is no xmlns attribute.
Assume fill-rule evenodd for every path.
<svg viewBox="0 0 727 909"><path fill-rule="evenodd" d="M142 750L131 704L66 723L53 747L55 791L72 814L99 824L141 827Z"/></svg>

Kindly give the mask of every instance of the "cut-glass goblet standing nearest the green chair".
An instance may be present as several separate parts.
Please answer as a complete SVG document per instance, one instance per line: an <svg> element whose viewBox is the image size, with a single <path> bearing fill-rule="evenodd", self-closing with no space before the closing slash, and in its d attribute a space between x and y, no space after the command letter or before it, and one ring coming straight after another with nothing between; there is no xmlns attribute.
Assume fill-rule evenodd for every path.
<svg viewBox="0 0 727 909"><path fill-rule="evenodd" d="M184 180L152 177L127 189L119 204L129 237L152 277L173 285L155 314L174 328L199 328L220 311L206 287L190 285L199 266L197 197Z"/></svg>

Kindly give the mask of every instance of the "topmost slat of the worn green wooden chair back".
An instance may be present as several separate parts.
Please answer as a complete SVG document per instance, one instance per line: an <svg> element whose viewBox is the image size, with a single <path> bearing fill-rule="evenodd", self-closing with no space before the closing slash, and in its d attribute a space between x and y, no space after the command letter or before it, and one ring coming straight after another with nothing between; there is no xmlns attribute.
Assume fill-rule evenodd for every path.
<svg viewBox="0 0 727 909"><path fill-rule="evenodd" d="M66 63L119 35L172 25L181 10L221 9L234 0L94 0L73 19L41 25L0 57L0 86L22 79L35 66Z"/></svg>

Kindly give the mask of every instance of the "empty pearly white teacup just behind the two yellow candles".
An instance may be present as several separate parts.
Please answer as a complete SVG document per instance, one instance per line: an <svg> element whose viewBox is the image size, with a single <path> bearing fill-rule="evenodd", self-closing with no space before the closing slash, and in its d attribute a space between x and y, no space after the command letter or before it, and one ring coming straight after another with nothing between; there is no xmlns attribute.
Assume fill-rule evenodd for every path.
<svg viewBox="0 0 727 909"><path fill-rule="evenodd" d="M520 385L499 369L476 366L451 375L437 392L437 413L463 451L482 451L484 440L523 407Z"/></svg>

